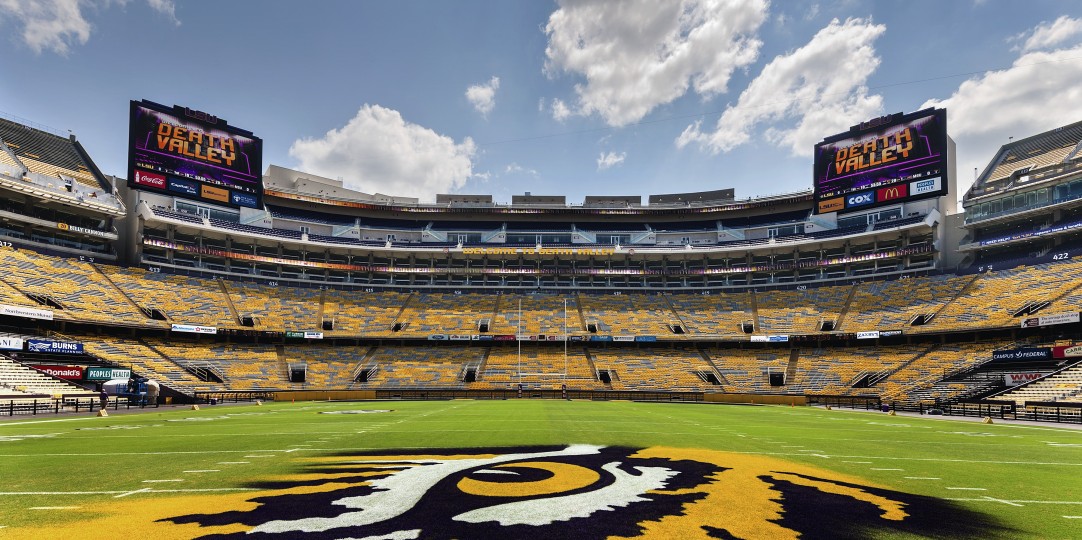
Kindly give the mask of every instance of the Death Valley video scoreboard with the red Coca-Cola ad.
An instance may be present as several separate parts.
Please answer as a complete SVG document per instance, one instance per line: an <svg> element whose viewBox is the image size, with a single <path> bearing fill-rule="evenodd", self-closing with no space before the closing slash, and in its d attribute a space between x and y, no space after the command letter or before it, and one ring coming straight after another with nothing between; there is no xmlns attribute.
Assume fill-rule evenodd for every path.
<svg viewBox="0 0 1082 540"><path fill-rule="evenodd" d="M131 102L128 185L230 207L263 205L263 140L213 115Z"/></svg>

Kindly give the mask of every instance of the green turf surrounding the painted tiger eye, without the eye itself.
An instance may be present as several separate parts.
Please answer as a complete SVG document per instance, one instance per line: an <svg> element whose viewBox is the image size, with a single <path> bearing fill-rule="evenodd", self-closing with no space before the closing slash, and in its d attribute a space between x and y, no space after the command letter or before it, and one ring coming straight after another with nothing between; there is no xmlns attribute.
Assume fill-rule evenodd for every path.
<svg viewBox="0 0 1082 540"><path fill-rule="evenodd" d="M374 422L373 414L317 413L319 410L371 408L395 409L395 412L379 414L379 420ZM193 488L200 488L201 483L212 483L222 489L243 489L242 486L251 485L249 483L252 482L285 478L303 471L303 462L298 461L299 458L325 458L366 450L393 449L424 453L425 450L438 447L560 446L570 443L709 448L730 455L778 458L856 478L870 477L868 475L872 473L869 473L869 469L853 467L852 464L875 464L881 469L906 464L907 474L912 476L876 475L875 484L941 500L947 500L944 495L949 493L942 487L945 485L984 485L988 492L1010 493L1010 497L995 499L979 497L979 492L954 491L952 495L971 496L968 499L959 499L956 504L974 511L994 512L1013 527L1013 538L1070 538L1073 529L1068 525L1070 519L1064 518L1066 509L1060 504L1079 503L1059 499L1074 498L1066 493L1082 487L1074 475L1063 474L1065 466L1082 465L1076 463L1082 461L1076 458L1077 449L1065 446L1071 453L1064 453L1058 448L1038 440L1058 438L1058 444L1069 445L1074 437L1082 435L1068 430L1055 430L1056 435L1050 436L1048 430L1025 431L999 423L978 427L968 422L945 423L944 420L921 418L907 418L905 422L886 421L883 417L874 417L868 412L837 414L837 411L769 406L752 408L528 399L333 403L304 408L268 403L261 409L274 413L248 417L242 421L234 417L210 422L163 422L163 419L169 418L194 418L200 412L155 411L126 416L123 421L88 420L89 423L75 423L65 427L60 427L63 424L53 424L40 425L35 430L34 425L22 424L25 427L0 433L63 433L52 438L3 443L4 451L19 457L18 467L13 467L17 469L14 476L4 473L5 484L13 482L15 484L11 484L12 486L28 487L28 492L58 493L18 496L17 500L27 506L69 502L80 504L82 499L63 496L65 486L70 485L70 476L64 475L64 471L80 471L80 478L87 485L110 491L115 497L133 491L140 478L172 478L182 469L185 474L216 471L215 474L206 475L192 473L196 476L186 477L185 482L190 482L192 484L186 485L192 485ZM212 409L210 414L219 412L220 410ZM140 430L121 434L108 430L75 429L76 425L87 427L109 424ZM159 425L153 426L154 424ZM21 424L15 421L6 425ZM224 433L226 430L228 433ZM358 435L359 431L366 433ZM840 434L848 435L848 438L830 436ZM861 437L862 435L867 437ZM215 440L214 437L221 437L222 440ZM235 438L225 440L224 437ZM770 449L791 451L767 451ZM241 453L234 455L235 452ZM266 452L262 456L286 459L248 458L261 456L261 452ZM226 462L246 466L230 466L224 472L208 466L213 466L215 458L228 460L230 457L243 457L242 459L253 461ZM83 472L83 463L88 458L123 462L121 477L115 477L115 467ZM134 476L135 474L138 476ZM938 480L916 482L931 478ZM173 497L192 493L159 489L136 491L138 492L118 501L118 504L142 503L143 499L164 503L171 497L169 493L177 493ZM132 502L127 502L128 500ZM42 513L35 513L32 518L23 514L19 514L17 508L0 505L0 523L16 530L32 523L52 519ZM1065 525L1057 526L1056 523ZM11 528L4 532L9 530Z"/></svg>

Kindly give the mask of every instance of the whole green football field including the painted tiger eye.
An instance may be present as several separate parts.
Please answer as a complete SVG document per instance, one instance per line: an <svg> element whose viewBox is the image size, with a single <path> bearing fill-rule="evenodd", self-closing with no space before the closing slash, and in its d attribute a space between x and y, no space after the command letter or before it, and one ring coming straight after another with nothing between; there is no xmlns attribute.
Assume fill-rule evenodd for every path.
<svg viewBox="0 0 1082 540"><path fill-rule="evenodd" d="M1082 431L805 407L36 417L0 471L4 538L1082 538Z"/></svg>

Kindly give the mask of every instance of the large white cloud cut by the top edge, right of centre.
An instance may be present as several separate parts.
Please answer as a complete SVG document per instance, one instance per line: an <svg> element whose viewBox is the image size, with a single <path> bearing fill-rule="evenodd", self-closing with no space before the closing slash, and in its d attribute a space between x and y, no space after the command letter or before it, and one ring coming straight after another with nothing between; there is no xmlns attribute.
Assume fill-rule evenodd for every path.
<svg viewBox="0 0 1082 540"><path fill-rule="evenodd" d="M626 126L689 89L726 92L733 71L758 57L766 11L766 0L560 0L544 27L544 70L583 79L575 114Z"/></svg>

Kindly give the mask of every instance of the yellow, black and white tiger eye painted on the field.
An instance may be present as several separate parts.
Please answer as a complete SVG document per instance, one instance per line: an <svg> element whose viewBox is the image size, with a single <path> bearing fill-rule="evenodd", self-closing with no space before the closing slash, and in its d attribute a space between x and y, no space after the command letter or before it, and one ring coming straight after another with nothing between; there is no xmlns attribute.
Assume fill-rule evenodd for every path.
<svg viewBox="0 0 1082 540"><path fill-rule="evenodd" d="M948 501L774 458L674 448L381 452L302 460L242 508L158 521L202 538L991 538ZM221 532L221 534L215 534Z"/></svg>

